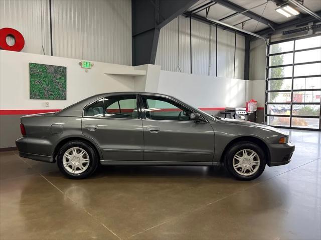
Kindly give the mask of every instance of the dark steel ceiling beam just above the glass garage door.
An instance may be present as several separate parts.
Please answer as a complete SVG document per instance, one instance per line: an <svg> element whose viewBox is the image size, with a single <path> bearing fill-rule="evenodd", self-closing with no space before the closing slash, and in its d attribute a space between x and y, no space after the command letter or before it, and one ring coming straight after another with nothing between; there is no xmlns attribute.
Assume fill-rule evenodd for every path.
<svg viewBox="0 0 321 240"><path fill-rule="evenodd" d="M316 12L316 14L321 15L321 11ZM301 18L296 18L294 20L277 25L277 27L275 28L275 31L281 31L281 30L284 30L287 28L298 26L298 25L302 26L302 25L310 23L310 22L317 22L317 20L315 20L315 18L310 15L305 15L305 16L302 16ZM274 33L274 31L270 28L255 32L255 34L261 35L261 36L265 36L265 35L272 34L272 33Z"/></svg>

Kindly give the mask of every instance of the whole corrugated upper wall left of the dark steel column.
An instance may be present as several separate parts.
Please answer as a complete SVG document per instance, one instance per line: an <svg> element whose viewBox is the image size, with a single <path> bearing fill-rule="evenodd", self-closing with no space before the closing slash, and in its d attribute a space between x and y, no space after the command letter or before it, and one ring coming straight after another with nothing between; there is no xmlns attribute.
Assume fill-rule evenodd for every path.
<svg viewBox="0 0 321 240"><path fill-rule="evenodd" d="M51 2L54 56L131 65L130 0ZM49 0L1 0L5 27L22 33L22 52L51 54Z"/></svg>

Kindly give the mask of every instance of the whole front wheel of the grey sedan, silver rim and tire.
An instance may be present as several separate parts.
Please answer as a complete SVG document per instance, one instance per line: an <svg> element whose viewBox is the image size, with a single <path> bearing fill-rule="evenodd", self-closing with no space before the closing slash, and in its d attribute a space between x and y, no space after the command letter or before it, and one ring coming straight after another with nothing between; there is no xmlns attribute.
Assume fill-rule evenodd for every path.
<svg viewBox="0 0 321 240"><path fill-rule="evenodd" d="M264 171L264 151L255 143L242 141L234 144L225 156L227 171L236 179L253 180Z"/></svg>

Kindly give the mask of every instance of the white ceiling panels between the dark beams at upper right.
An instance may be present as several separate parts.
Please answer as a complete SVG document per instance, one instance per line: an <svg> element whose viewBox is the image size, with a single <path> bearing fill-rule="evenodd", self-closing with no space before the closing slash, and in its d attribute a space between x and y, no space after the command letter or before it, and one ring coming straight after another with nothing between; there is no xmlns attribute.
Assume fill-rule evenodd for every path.
<svg viewBox="0 0 321 240"><path fill-rule="evenodd" d="M240 7L245 8L245 9L250 9L250 8L253 8L253 7L258 6L260 4L263 4L262 6L254 8L250 11L259 15L259 16L262 16L263 18L268 19L276 24L281 24L281 23L291 21L291 20L297 18L297 16L286 18L283 15L277 13L275 11L277 6L272 1L268 1L268 2L267 2L267 0L229 0L229 1L233 2L234 4L236 4ZM196 4L194 4L189 9L189 11L194 10L194 9L196 9L206 3L210 3L210 2L211 2L210 0L200 0ZM264 4L264 3L266 3L266 4ZM320 11L321 10L321 0L304 0L304 6L309 8L313 12ZM297 10L299 12L301 12L303 15L306 14L299 9L297 9ZM226 16L229 16L233 13L235 13L235 12L220 5L220 4L215 4L215 5L211 6L208 17L215 19L215 20L220 20L220 19L222 19ZM203 11L197 13L197 15L200 15L202 17L206 17L206 11L203 10ZM232 18L224 20L223 22L227 23L229 25L235 25L235 24L241 23L247 19L249 19L249 18L244 15L236 15ZM242 25L237 25L236 27L242 28ZM260 31L260 30L263 30L266 28L268 28L268 26L258 23L257 21L255 21L253 19L245 22L244 27L243 27L244 30L247 30L250 32L257 32L257 31Z"/></svg>

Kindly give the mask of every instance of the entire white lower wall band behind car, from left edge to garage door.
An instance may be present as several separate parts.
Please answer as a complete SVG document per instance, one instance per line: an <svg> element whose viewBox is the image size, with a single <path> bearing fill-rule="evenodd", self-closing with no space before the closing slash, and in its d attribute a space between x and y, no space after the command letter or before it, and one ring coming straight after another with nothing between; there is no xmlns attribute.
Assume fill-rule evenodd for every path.
<svg viewBox="0 0 321 240"><path fill-rule="evenodd" d="M259 81L161 71L161 66L150 64L132 67L94 62L93 68L86 73L79 66L79 61L0 50L0 109L46 109L46 102L49 102L48 109L62 109L95 94L118 91L169 94L198 108L241 107L252 97L248 89L249 83L259 83ZM67 100L30 99L30 62L67 67ZM121 74L130 74L135 70L144 70L146 74L141 76ZM120 74L105 74L108 72ZM258 87L253 89L257 90ZM259 92L261 94L264 89Z"/></svg>

